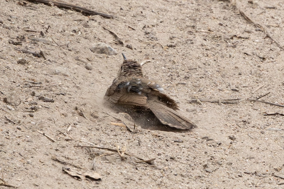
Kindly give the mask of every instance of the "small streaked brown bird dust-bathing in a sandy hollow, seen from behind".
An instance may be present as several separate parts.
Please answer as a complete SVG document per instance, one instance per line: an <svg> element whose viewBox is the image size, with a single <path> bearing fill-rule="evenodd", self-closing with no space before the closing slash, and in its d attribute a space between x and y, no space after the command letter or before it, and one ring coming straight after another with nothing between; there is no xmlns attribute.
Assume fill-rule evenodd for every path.
<svg viewBox="0 0 284 189"><path fill-rule="evenodd" d="M118 76L106 91L106 101L120 111L130 115L133 113L135 118L147 116L149 121L152 116L158 119L160 124L177 129L196 127L176 111L179 110L177 103L162 93L164 89L160 85L143 76L141 64L135 60L127 60L123 53L122 55L124 61Z"/></svg>

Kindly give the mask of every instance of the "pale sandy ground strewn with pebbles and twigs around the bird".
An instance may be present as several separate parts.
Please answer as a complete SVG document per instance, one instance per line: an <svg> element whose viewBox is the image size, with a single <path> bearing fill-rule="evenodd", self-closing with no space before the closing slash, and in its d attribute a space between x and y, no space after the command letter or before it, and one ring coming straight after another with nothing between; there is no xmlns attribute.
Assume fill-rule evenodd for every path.
<svg viewBox="0 0 284 189"><path fill-rule="evenodd" d="M284 45L282 0L70 1L113 19L24 3L0 0L0 173L5 183L18 188L283 187L283 107L246 101L270 92L260 100L284 104L284 55L275 43ZM91 52L98 42L118 54ZM27 49L48 53L49 60L22 52ZM110 116L103 96L123 61L121 52L151 60L143 65L147 77L162 84L198 128L177 133L130 126L130 132L110 124L121 122ZM217 102L192 102L196 98ZM219 99L241 100L224 104ZM90 144L65 139L125 146L126 154L155 160L141 163L126 154L74 147ZM94 160L101 180L72 177L93 171Z"/></svg>

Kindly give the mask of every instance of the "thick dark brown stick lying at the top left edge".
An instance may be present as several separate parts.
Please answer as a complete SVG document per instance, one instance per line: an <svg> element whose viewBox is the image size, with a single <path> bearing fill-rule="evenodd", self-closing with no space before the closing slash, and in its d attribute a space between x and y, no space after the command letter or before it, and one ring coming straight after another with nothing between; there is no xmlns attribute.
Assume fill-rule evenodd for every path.
<svg viewBox="0 0 284 189"><path fill-rule="evenodd" d="M59 2L59 1L53 1L53 0L26 0L26 1L43 3L45 5L48 5L49 2L52 2L55 6L57 6L59 8L72 9L72 10L76 10L78 12L82 12L82 13L87 14L87 15L99 15L99 16L102 16L104 18L112 18L112 15L109 15L109 14L96 12L96 11L93 11L93 10L85 9L83 7L78 7L76 5L71 5L71 4Z"/></svg>

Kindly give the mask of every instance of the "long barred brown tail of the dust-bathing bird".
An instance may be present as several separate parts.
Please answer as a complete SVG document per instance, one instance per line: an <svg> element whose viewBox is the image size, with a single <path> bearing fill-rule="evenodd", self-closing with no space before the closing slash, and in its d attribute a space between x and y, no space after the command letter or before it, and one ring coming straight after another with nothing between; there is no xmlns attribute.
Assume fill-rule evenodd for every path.
<svg viewBox="0 0 284 189"><path fill-rule="evenodd" d="M155 114L162 124L177 129L192 129L196 127L196 125L189 119L183 117L178 112L167 107L166 105L154 101L148 101L148 105L150 110Z"/></svg>

